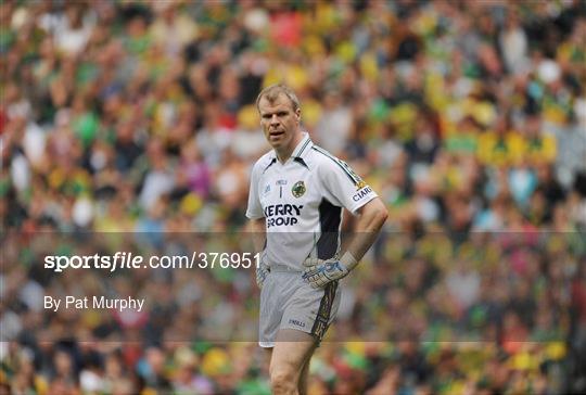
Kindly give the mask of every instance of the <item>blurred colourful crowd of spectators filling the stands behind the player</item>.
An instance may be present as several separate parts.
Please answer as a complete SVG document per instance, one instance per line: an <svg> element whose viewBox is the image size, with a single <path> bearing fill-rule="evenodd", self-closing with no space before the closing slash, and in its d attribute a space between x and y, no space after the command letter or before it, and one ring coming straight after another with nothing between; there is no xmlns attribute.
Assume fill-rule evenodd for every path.
<svg viewBox="0 0 586 395"><path fill-rule="evenodd" d="M268 392L253 335L209 336L252 322L252 272L49 276L48 245L92 244L36 240L169 253L193 246L166 233L239 234L269 150L254 101L283 81L391 213L310 391L586 391L584 1L7 0L0 54L3 388ZM153 303L39 302L104 290Z"/></svg>

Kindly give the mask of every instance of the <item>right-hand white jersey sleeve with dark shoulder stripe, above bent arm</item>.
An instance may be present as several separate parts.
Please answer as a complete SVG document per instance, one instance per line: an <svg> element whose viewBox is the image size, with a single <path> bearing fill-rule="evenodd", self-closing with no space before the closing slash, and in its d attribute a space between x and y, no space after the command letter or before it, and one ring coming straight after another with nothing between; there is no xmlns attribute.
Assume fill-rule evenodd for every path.
<svg viewBox="0 0 586 395"><path fill-rule="evenodd" d="M324 197L351 213L377 197L377 193L344 161L331 156L319 171Z"/></svg>

